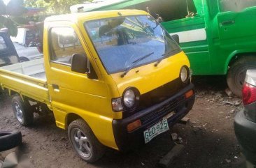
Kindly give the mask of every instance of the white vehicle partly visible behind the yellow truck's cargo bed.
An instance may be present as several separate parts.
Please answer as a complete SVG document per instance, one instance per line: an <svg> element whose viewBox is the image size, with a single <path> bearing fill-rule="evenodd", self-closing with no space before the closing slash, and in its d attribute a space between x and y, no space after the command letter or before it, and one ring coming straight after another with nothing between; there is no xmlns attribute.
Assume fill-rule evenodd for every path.
<svg viewBox="0 0 256 168"><path fill-rule="evenodd" d="M43 58L40 47L24 47L18 43L13 43L13 45L19 55L20 62Z"/></svg>

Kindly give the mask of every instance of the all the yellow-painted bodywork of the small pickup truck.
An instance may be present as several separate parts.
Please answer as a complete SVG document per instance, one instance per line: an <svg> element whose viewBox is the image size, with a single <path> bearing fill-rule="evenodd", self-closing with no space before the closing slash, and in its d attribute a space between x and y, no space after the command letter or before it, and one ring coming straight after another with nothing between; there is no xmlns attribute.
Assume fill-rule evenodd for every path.
<svg viewBox="0 0 256 168"><path fill-rule="evenodd" d="M120 77L122 72L108 75L83 24L88 20L118 17L118 12L123 16L148 15L140 10L111 10L48 17L45 20L43 47L47 82L0 70L1 86L20 91L24 96L47 104L52 109L59 128L68 127L66 121L69 114L80 116L90 125L94 135L102 144L118 149L113 135L112 121L122 119L122 112L112 111L111 99L122 96L123 91L129 86L136 87L141 94L151 91L178 78L182 66L190 67L187 56L180 52L162 60L157 67L154 63L150 63L134 68L123 78ZM70 66L50 61L48 31L56 26L68 26L76 31L83 46L82 50L90 59L98 79L89 79L85 74L72 72ZM57 84L59 89L54 89L53 84Z"/></svg>

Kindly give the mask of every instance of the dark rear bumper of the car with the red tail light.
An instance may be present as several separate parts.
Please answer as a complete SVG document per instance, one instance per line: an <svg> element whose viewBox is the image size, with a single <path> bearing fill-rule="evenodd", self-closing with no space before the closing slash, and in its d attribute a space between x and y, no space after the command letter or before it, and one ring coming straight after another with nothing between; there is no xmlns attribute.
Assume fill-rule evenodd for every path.
<svg viewBox="0 0 256 168"><path fill-rule="evenodd" d="M246 119L243 109L235 116L234 130L246 159L256 165L256 123Z"/></svg>

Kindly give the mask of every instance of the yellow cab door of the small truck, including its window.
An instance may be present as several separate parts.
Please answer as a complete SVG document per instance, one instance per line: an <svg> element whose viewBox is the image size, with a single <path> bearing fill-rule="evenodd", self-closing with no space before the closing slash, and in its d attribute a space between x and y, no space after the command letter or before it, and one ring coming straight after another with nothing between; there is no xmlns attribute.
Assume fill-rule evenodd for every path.
<svg viewBox="0 0 256 168"><path fill-rule="evenodd" d="M67 115L76 114L104 142L104 138L109 135L104 137L99 134L108 134L112 124L109 119L111 104L107 98L108 86L101 79L83 36L73 25L52 26L48 30L48 43L50 52L45 70L57 126L67 128ZM84 54L87 57L87 68L97 74L94 79L85 73L71 71L73 54Z"/></svg>

